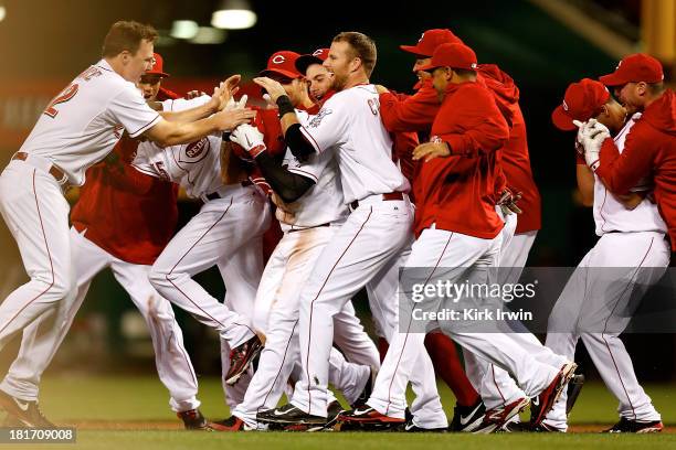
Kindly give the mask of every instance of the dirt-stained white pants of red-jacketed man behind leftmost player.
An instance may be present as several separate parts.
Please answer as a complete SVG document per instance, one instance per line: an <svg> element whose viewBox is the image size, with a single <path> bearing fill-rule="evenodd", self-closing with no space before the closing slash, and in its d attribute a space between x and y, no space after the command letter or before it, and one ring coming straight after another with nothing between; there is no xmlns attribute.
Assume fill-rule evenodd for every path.
<svg viewBox="0 0 676 450"><path fill-rule="evenodd" d="M86 234L86 232L84 233ZM11 365L0 388L18 398L38 398L42 372L52 360L65 338L75 314L84 301L92 279L105 268L110 268L115 279L129 293L131 301L144 317L152 346L158 375L170 395L169 405L175 411L198 408L196 395L198 382L190 357L183 346L183 335L176 322L171 304L162 299L148 281L150 266L123 261L71 228L71 249L75 269L77 296L67 308L66 320L54 334L51 345L34 345L42 320L34 321L23 331L19 356Z"/></svg>

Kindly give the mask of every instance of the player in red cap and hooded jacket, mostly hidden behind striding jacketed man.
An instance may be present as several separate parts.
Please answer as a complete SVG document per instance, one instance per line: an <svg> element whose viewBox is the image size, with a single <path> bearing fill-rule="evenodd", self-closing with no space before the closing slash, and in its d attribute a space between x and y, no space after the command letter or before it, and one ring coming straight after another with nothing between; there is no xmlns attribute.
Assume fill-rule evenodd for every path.
<svg viewBox="0 0 676 450"><path fill-rule="evenodd" d="M388 129L392 131L416 130L429 135L440 104L436 92L431 84L430 75L420 71L420 67L430 63L432 53L443 43L462 43L462 41L450 30L434 29L425 31L415 45L401 45L403 51L416 56L413 72L419 78L419 90L406 97L394 95L379 87L383 109L382 117ZM500 283L514 283L520 276L520 268L526 264L528 250L535 240L537 229L540 227L540 197L530 171L526 126L518 105L518 88L507 74L493 64L478 65L477 79L494 94L500 113L510 125L509 139L498 153L500 157L499 165L509 184L509 190L505 190L506 185L501 180L496 180L496 201L501 204L496 211L500 218L505 221L505 227L501 232L503 245L500 247L498 279ZM518 193L519 204L524 211L519 207L515 208L511 192ZM519 213L518 222L516 214L513 214L513 210ZM482 398L487 408L504 405L509 398L514 399L522 394L506 372L496 369L490 365L485 366L482 361L467 353L464 355L468 376L477 388L480 386ZM460 374L461 369L462 367L458 367L455 372ZM472 414L476 418L484 413L484 405L477 400L474 389L466 387L468 382L461 383L466 378L464 372L462 376L456 375L451 378L457 386L455 390L462 394L466 393L462 396L456 395L458 405L451 426L454 430L474 430L478 421L467 420L465 416ZM462 426L461 421L465 425Z"/></svg>

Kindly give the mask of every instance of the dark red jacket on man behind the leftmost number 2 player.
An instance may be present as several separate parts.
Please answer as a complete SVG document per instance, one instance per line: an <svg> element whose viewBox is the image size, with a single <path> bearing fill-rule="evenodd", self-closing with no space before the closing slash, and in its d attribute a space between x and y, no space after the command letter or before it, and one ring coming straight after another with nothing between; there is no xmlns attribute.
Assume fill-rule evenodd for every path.
<svg viewBox="0 0 676 450"><path fill-rule="evenodd" d="M158 98L172 98L166 93ZM173 236L178 186L131 168L137 147L138 141L123 138L112 153L117 161L108 158L87 170L71 221L116 258L151 265Z"/></svg>

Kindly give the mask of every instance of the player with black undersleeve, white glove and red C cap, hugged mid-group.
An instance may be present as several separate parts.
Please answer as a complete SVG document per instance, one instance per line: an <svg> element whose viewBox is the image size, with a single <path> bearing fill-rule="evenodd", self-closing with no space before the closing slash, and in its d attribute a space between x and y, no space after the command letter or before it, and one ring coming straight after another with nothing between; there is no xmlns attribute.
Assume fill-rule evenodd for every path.
<svg viewBox="0 0 676 450"><path fill-rule="evenodd" d="M309 100L307 84L294 66L297 57L294 52L277 52L268 58L267 68L261 75L276 79L297 108L296 114L307 121L307 107L314 104ZM284 169L267 153L263 135L257 129L237 128L231 139L255 154L275 192L276 215L284 231L284 237L265 267L256 294L258 319L255 324L266 336L265 349L244 401L237 405L231 418L218 424L223 430L240 431L264 428L257 422L257 414L277 405L289 375L297 378L299 371L295 367L299 368L300 358L298 298L319 253L345 221L347 207L330 154L299 162L287 151ZM260 318L263 311L267 314ZM329 376L331 384L344 392L350 404L355 404L367 385L370 387L371 367L379 366L378 352L355 317L351 303L335 317L334 324L336 344L359 364L347 363L334 349ZM330 417L336 417L341 411L340 404L335 398L329 404Z"/></svg>

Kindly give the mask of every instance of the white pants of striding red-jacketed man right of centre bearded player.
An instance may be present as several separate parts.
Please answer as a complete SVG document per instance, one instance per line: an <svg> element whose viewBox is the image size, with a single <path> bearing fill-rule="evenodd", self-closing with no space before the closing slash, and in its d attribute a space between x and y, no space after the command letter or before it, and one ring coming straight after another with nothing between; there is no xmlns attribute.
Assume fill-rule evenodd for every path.
<svg viewBox="0 0 676 450"><path fill-rule="evenodd" d="M499 255L501 235L494 239L482 239L442 229L424 229L413 244L405 267L424 269L425 285L437 280L474 283L490 282L488 267L495 267ZM441 311L439 304L425 308ZM408 323L413 317L406 318ZM408 324L404 324L408 329ZM461 344L466 352L477 358L490 362L514 374L521 388L532 397L545 389L567 362L550 351L541 351L542 345L522 333L476 332L457 329L453 321L439 322L441 330ZM383 361L373 394L368 405L381 414L403 417L405 408L405 387L416 365L424 333L398 333ZM537 358L534 357L537 355ZM381 376L382 375L382 376Z"/></svg>

